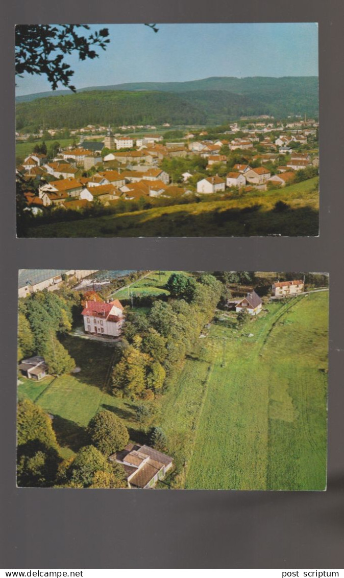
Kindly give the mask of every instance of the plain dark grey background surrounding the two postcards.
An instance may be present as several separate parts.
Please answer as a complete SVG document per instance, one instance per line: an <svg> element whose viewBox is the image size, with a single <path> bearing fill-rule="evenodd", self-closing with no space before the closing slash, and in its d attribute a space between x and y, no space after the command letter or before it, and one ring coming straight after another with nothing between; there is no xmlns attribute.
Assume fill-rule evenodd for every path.
<svg viewBox="0 0 344 578"><path fill-rule="evenodd" d="M340 568L343 565L343 24L341 0L16 0L2 9L2 568ZM319 22L320 237L16 239L14 24ZM290 39L292 42L292 38ZM220 49L220 47L219 47ZM104 56L103 56L104 57ZM187 55L185 56L187 58ZM273 58L274 55L271 55ZM300 54L302 58L302 54ZM322 271L331 275L326 492L15 487L18 268ZM211 467L211 464L210 464Z"/></svg>

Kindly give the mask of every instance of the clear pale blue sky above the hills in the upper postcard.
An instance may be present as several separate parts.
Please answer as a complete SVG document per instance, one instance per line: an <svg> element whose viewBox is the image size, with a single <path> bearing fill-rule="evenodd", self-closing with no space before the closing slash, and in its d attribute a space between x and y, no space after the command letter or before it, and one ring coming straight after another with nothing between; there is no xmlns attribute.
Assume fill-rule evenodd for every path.
<svg viewBox="0 0 344 578"><path fill-rule="evenodd" d="M66 58L76 88L126 82L170 82L210 76L317 76L316 23L98 24L110 44L99 58ZM80 29L81 31L81 29ZM85 31L88 34L87 31ZM58 88L64 88L59 86ZM16 94L51 90L44 76L17 78Z"/></svg>

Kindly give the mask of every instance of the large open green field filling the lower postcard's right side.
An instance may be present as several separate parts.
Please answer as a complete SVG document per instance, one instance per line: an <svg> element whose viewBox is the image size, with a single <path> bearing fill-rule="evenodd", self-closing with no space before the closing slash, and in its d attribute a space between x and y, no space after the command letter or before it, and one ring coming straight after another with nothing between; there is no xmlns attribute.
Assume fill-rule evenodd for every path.
<svg viewBox="0 0 344 578"><path fill-rule="evenodd" d="M326 487L328 293L270 309L250 324L259 332L252 341L211 328L211 375L187 488Z"/></svg>

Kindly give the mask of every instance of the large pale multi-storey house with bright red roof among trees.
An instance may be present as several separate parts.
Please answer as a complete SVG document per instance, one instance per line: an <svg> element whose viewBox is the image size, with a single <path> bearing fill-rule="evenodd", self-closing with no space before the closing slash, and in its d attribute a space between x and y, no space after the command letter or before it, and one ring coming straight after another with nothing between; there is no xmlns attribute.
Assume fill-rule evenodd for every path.
<svg viewBox="0 0 344 578"><path fill-rule="evenodd" d="M86 333L119 337L124 314L122 303L115 299L110 302L86 301L81 315Z"/></svg>

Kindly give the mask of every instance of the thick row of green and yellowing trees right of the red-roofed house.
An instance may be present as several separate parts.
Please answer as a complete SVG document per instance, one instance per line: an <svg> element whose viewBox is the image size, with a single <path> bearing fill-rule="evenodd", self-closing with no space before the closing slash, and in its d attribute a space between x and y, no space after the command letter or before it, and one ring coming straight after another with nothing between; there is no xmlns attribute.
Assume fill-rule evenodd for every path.
<svg viewBox="0 0 344 578"><path fill-rule="evenodd" d="M145 316L126 313L124 347L112 376L115 395L149 400L163 391L166 377L190 353L222 293L222 284L208 274L173 273L167 288L169 302L156 300Z"/></svg>

